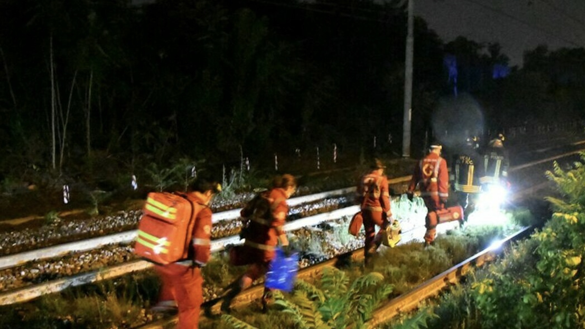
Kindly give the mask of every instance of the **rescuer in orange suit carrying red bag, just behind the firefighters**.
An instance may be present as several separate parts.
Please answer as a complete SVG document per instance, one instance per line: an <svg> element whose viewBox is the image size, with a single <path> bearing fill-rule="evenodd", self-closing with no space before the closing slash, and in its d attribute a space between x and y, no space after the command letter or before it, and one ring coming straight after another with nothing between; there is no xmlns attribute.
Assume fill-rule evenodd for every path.
<svg viewBox="0 0 585 329"><path fill-rule="evenodd" d="M421 191L425 201L427 214L425 219L425 246L435 241L436 226L439 224L437 216L429 215L434 211L445 208L449 197L449 173L447 162L441 157L441 143L433 143L429 153L415 166L412 180L408 186L408 196L412 198L414 190Z"/></svg>

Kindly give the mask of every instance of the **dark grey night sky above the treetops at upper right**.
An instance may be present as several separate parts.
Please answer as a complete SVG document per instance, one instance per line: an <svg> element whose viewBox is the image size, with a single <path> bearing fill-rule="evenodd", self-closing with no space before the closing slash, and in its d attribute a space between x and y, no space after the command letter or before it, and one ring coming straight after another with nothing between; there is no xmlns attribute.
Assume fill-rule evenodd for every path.
<svg viewBox="0 0 585 329"><path fill-rule="evenodd" d="M415 15L444 42L499 42L511 65L539 44L585 46L585 0L415 0Z"/></svg>

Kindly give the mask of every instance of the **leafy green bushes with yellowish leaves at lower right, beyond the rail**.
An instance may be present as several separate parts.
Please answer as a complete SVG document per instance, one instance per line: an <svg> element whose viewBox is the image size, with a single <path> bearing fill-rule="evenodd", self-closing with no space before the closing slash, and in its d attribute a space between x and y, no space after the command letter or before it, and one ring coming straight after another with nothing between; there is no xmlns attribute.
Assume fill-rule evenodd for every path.
<svg viewBox="0 0 585 329"><path fill-rule="evenodd" d="M497 263L474 273L466 286L425 307L416 315L425 319L425 326L411 328L585 326L581 287L585 279L585 153L580 157L572 169L563 170L555 163L546 173L563 197L548 198L556 212L545 226L508 249Z"/></svg>

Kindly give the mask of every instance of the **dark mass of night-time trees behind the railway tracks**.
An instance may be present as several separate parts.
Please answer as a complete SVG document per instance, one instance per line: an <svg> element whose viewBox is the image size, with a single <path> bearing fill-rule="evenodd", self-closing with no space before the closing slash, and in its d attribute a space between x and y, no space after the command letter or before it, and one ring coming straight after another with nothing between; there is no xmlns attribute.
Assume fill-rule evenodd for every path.
<svg viewBox="0 0 585 329"><path fill-rule="evenodd" d="M274 170L278 155L292 170L299 154L314 163L317 148L331 163L336 147L338 166L398 156L406 16L397 4L1 0L3 191L113 189L152 164L229 172L246 157ZM417 18L414 44L414 156L441 136L431 119L445 104L446 125L462 135L583 118L583 49L538 47L494 79L494 65L508 63L497 43L445 44ZM446 54L457 58L457 98ZM459 98L472 109L453 106ZM457 111L480 119L470 126Z"/></svg>

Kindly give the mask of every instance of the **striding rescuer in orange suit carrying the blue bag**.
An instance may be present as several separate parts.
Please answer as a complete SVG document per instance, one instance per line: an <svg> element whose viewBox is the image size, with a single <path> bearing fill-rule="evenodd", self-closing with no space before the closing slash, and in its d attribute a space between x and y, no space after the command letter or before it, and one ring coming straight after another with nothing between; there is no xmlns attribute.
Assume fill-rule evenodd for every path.
<svg viewBox="0 0 585 329"><path fill-rule="evenodd" d="M230 302L242 290L252 286L254 280L265 275L270 261L276 256L276 247L280 244L283 249L288 250L288 239L283 227L288 214L286 200L297 190L297 181L290 174L277 176L272 183L272 188L264 193L270 202L272 214L270 221L250 221L249 232L243 248L240 249L246 258L249 258L250 265L244 275L228 286L229 292L225 294L221 310L229 313ZM253 209L242 209L242 217L249 217ZM271 291L264 289L262 295L262 309L266 311L267 304L271 301Z"/></svg>

